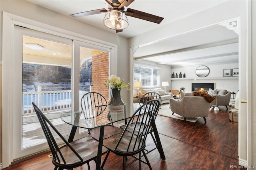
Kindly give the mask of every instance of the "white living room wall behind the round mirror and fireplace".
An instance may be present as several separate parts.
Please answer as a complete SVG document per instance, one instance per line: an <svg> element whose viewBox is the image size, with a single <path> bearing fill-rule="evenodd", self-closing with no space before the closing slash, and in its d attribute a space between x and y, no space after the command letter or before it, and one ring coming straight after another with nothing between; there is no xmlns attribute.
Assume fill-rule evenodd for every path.
<svg viewBox="0 0 256 170"><path fill-rule="evenodd" d="M196 75L196 68L198 66L200 65L172 68L172 72L174 72L174 74L178 73L179 75L180 71L182 72L182 75L183 73L186 74L186 78L183 80L172 80L172 90L180 90L180 87L185 87L185 92L191 92L191 83L215 83L216 89L226 89L228 91L234 91L237 93L238 79L229 79L232 77L223 77L223 69L236 69L238 68L238 63L206 65L209 68L210 73L204 78L200 78Z"/></svg>

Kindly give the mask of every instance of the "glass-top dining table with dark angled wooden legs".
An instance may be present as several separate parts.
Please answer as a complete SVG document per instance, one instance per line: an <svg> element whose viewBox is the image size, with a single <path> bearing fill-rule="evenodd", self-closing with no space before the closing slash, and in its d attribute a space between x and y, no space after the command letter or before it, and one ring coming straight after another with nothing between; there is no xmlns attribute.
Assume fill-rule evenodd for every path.
<svg viewBox="0 0 256 170"><path fill-rule="evenodd" d="M93 128L100 128L99 140L98 140L98 156L96 160L96 170L101 170L101 154L102 154L102 146L103 146L103 136L104 136L104 127L106 125L113 125L118 121L126 121L134 112L140 107L140 103L125 103L124 110L119 112L108 112L108 116L106 114L100 114L96 117L92 117L90 119L86 119L85 115L81 111L68 111L61 114L61 119L65 123L72 125L72 129L70 132L70 136L68 138L68 142L72 142L76 133L76 129L86 128L86 129L93 129ZM165 160L164 150L162 148L162 144L159 138L159 134L156 128L156 124L152 122L152 128L154 131L154 136L156 142L158 144L158 150L162 160Z"/></svg>

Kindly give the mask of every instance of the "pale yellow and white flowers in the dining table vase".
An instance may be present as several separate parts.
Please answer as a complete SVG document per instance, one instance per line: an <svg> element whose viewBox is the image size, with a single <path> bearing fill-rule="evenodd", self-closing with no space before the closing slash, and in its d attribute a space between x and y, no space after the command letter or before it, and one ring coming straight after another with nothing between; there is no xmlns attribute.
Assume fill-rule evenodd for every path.
<svg viewBox="0 0 256 170"><path fill-rule="evenodd" d="M106 85L109 86L110 89L118 89L121 90L123 88L126 88L126 90L130 90L129 85L131 82L125 84L124 79L120 79L116 75L111 75L110 79L106 80Z"/></svg>

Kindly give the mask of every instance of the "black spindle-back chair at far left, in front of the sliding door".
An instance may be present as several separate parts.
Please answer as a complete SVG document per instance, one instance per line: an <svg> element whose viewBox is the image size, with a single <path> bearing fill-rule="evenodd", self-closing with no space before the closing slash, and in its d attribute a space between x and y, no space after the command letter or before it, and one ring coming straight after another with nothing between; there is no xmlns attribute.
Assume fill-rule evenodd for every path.
<svg viewBox="0 0 256 170"><path fill-rule="evenodd" d="M32 103L36 115L39 119L39 122L42 126L42 130L46 136L48 145L52 152L52 163L55 165L54 170L63 170L63 169L73 169L83 164L88 164L90 169L89 162L96 159L98 151L98 142L87 136L74 142L68 142L62 134L52 125L52 123L47 119L47 117L42 113L42 111ZM55 140L55 137L52 134L52 131L55 132L62 141L60 143L62 146L59 146ZM54 135L55 135L54 133ZM102 149L103 153L106 153L106 148Z"/></svg>

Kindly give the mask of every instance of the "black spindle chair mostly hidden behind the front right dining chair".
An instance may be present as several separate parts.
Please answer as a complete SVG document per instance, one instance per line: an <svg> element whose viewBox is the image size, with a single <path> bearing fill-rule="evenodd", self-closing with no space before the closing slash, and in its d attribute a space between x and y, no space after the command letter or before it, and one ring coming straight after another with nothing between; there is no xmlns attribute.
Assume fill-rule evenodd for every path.
<svg viewBox="0 0 256 170"><path fill-rule="evenodd" d="M162 103L161 96L160 96L158 93L156 93L156 92L148 92L148 93L144 94L144 95L140 98L139 103L140 103L140 105L142 105L143 103L146 103L147 101L150 101L150 100L152 100L152 99L158 100L159 103L160 103L160 106L161 106L161 103ZM155 117L154 117L154 120L156 120L157 114L158 114L158 111L156 112L156 115L155 115ZM126 126L126 125L122 125L122 126L120 126L120 128L125 128L125 126ZM133 128L133 126L132 126L132 127L128 127L127 130L130 131L130 130L132 130L132 128ZM150 149L150 150L145 149L145 150L147 151L146 154L152 152L152 151L155 150L155 149L158 149L158 145L157 145L156 139L155 139L155 137L154 137L154 135L153 135L153 129L151 128L148 133L150 133L150 135L151 135L151 137L152 137L152 139L153 139L153 141L154 141L156 147L154 147L154 148L152 148L152 149Z"/></svg>

